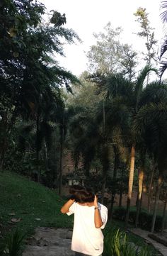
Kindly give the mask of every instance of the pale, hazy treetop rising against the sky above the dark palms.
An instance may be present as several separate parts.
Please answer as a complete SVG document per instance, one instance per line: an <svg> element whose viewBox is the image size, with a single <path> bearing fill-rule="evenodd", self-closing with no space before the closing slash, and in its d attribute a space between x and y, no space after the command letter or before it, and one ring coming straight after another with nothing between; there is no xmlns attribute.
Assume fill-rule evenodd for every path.
<svg viewBox="0 0 167 256"><path fill-rule="evenodd" d="M132 69L136 67L137 53L127 44L120 43L122 28L112 28L108 23L104 32L94 33L96 45L87 52L88 67L91 72L103 74L117 73L124 70L125 74L133 76Z"/></svg>

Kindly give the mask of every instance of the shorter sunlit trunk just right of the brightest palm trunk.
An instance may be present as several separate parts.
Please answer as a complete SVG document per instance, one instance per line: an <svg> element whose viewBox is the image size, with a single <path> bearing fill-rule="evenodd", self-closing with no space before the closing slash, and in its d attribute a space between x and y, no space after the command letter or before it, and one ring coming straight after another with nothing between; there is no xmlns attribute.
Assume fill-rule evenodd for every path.
<svg viewBox="0 0 167 256"><path fill-rule="evenodd" d="M139 221L139 212L140 212L140 208L142 205L142 190L143 190L143 180L144 180L144 171L141 168L139 170L139 191L138 191L138 201L137 201L137 216L136 216L136 220L135 220L135 228L137 228L137 224Z"/></svg>

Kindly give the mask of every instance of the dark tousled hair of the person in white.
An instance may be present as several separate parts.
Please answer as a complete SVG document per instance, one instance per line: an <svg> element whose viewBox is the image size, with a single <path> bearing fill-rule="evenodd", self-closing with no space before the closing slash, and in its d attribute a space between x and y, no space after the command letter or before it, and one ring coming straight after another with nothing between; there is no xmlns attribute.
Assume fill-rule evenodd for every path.
<svg viewBox="0 0 167 256"><path fill-rule="evenodd" d="M71 199L79 203L91 203L95 199L92 189L81 185L71 186L69 193L72 194Z"/></svg>

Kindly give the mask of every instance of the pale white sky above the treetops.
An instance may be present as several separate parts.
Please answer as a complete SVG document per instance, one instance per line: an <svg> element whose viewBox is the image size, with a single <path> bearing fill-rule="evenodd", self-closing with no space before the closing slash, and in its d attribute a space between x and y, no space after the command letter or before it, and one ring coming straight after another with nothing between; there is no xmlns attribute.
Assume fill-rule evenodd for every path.
<svg viewBox="0 0 167 256"><path fill-rule="evenodd" d="M155 28L155 38L161 43L163 26L160 18L161 0L40 0L45 4L47 11L65 13L66 27L72 28L81 38L82 43L64 46L66 57L59 57L59 65L79 76L86 70L88 60L86 52L96 43L93 33L103 31L108 22L113 28L122 27L121 42L132 45L133 50L145 50L144 41L135 33L140 26L134 13L139 7L145 8L149 13L151 27Z"/></svg>

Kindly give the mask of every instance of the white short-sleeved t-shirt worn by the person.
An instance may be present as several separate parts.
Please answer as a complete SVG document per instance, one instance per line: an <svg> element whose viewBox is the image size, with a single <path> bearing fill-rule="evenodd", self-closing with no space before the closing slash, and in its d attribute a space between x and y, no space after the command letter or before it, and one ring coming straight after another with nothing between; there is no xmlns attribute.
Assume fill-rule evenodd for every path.
<svg viewBox="0 0 167 256"><path fill-rule="evenodd" d="M103 226L108 220L108 208L99 204L100 216ZM69 208L68 215L74 213L74 228L72 234L71 250L86 255L98 256L103 252L103 233L94 223L94 206L81 206L74 202Z"/></svg>

